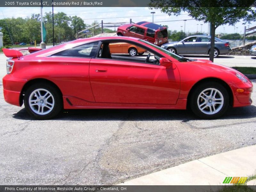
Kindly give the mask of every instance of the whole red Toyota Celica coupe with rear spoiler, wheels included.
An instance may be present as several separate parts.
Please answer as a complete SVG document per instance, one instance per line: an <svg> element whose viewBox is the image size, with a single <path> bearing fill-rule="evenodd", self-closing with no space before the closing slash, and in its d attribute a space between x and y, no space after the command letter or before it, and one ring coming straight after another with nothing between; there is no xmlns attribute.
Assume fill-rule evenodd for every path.
<svg viewBox="0 0 256 192"><path fill-rule="evenodd" d="M114 43L128 43L144 55L111 54ZM3 49L6 102L37 119L64 109L186 109L217 118L229 106L251 105L252 83L240 72L209 60L186 59L132 37L78 39L45 50Z"/></svg>

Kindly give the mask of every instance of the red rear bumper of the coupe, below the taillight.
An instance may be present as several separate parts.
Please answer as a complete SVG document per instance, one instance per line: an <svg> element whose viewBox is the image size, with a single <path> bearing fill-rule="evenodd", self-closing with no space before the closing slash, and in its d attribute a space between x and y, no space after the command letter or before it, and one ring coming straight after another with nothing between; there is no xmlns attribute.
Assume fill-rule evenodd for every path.
<svg viewBox="0 0 256 192"><path fill-rule="evenodd" d="M27 80L13 77L11 74L3 78L4 100L12 105L21 106L20 93Z"/></svg>

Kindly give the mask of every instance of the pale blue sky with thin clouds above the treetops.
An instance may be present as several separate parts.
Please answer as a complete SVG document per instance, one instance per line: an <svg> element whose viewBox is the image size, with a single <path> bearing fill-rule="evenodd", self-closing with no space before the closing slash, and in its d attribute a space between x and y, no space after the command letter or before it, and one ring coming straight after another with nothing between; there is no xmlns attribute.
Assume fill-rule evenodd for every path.
<svg viewBox="0 0 256 192"><path fill-rule="evenodd" d="M44 7L44 12L52 11L52 7ZM77 15L84 19L86 24L91 24L94 20L98 22L129 22L130 18L133 22L139 21L150 21L152 22L152 14L150 12L156 12L154 14L154 22L157 24L168 25L170 30L178 30L181 28L184 31L185 21L186 21L186 32L196 32L197 27L198 31L208 32L208 24L199 22L196 20L188 20L192 19L186 13L182 13L180 16L168 16L165 13L162 13L160 10L149 10L148 7L54 7L54 12L65 12L68 16ZM0 8L0 18L7 17L27 17L32 13L40 13L40 7L1 7ZM109 18L109 19L101 19L101 18ZM170 20L181 20L181 21L170 21ZM162 22L158 22L162 21ZM168 22L166 22L168 21ZM216 29L216 33L234 33L234 31L243 34L244 33L244 25L243 22L238 22L235 27L234 26L220 26ZM198 25L197 25L198 24ZM182 26L182 27L181 27ZM256 26L256 22L252 22L250 25ZM1 26L0 26L1 27ZM237 27L237 28L236 28ZM224 29L225 28L225 29ZM246 24L246 28L248 28L248 24ZM111 28L114 29L114 28Z"/></svg>

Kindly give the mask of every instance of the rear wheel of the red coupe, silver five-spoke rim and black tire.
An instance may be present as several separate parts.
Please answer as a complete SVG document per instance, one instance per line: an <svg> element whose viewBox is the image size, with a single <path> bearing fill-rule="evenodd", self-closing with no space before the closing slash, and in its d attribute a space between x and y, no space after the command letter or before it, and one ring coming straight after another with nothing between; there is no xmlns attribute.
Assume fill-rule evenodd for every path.
<svg viewBox="0 0 256 192"><path fill-rule="evenodd" d="M48 99L45 99L45 98L39 99L35 96L35 93L33 93L36 90L39 90L39 92L42 94L42 96L44 96L44 93L46 93L46 91L47 91L49 93L45 96L45 98L47 98L48 96L50 96L50 97ZM38 92L36 94L39 96ZM32 103L31 105L33 105L33 104L34 105L30 106L29 105L30 97L33 100L40 100L40 101L31 102ZM47 103L45 103L45 102L47 102ZM40 106L38 104L41 105L41 109L43 108L43 111L45 109L45 113L47 113L47 114L38 114L40 112L38 112L38 111L35 112L35 110L37 110L37 109L41 110ZM25 105L25 108L29 115L33 116L36 119L45 120L45 119L51 119L60 113L61 109L63 108L63 101L62 101L62 97L61 97L60 93L56 90L55 87L53 87L49 84L38 83L38 84L31 85L25 92L24 105ZM42 107L42 105L44 105L44 106ZM46 105L48 107L46 107ZM49 109L49 107L51 107L51 109Z"/></svg>

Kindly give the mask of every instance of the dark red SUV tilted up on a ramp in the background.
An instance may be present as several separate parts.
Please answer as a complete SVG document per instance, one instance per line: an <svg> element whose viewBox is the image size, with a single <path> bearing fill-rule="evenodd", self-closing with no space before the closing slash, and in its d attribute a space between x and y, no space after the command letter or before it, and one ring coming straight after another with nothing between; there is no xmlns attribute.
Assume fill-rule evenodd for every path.
<svg viewBox="0 0 256 192"><path fill-rule="evenodd" d="M116 34L140 38L158 46L168 41L166 27L147 21L121 25L117 28Z"/></svg>

